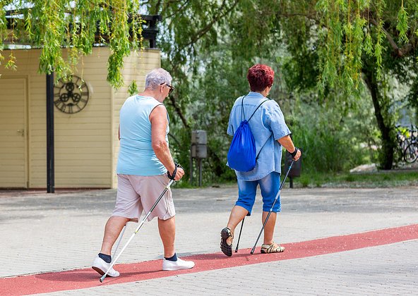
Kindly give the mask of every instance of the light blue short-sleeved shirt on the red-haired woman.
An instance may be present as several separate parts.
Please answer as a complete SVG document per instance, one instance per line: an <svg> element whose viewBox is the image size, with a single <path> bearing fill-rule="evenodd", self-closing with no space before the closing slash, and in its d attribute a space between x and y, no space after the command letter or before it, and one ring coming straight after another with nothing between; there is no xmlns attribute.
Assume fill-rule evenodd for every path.
<svg viewBox="0 0 418 296"><path fill-rule="evenodd" d="M242 99L243 97L239 97L232 106L229 114L228 135L234 135L239 124L244 120L241 112ZM258 92L249 92L244 96L244 113L247 121L257 106L265 99ZM273 99L266 101L254 113L253 118L249 121L249 126L256 141L256 154L259 153L258 159L256 167L252 171L235 171L237 179L253 181L259 180L273 171L281 173L282 145L277 140L290 135L291 132L287 128L279 104Z"/></svg>

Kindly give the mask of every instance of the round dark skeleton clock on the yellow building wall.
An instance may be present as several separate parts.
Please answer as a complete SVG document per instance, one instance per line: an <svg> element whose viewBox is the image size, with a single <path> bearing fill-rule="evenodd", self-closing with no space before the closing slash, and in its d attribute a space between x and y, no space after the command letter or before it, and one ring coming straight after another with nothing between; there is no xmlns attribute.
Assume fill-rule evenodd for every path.
<svg viewBox="0 0 418 296"><path fill-rule="evenodd" d="M88 87L78 76L60 79L54 86L54 104L64 113L80 112L87 105L88 97Z"/></svg>

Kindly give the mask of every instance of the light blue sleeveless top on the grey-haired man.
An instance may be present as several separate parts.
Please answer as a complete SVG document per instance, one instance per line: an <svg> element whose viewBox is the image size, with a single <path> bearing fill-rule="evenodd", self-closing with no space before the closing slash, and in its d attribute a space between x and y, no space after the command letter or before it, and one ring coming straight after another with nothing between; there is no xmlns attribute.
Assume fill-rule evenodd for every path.
<svg viewBox="0 0 418 296"><path fill-rule="evenodd" d="M129 97L120 111L121 142L117 173L124 175L162 175L167 168L157 159L151 143L150 113L162 105L153 97ZM167 113L168 118L168 113ZM168 144L169 126L165 134Z"/></svg>

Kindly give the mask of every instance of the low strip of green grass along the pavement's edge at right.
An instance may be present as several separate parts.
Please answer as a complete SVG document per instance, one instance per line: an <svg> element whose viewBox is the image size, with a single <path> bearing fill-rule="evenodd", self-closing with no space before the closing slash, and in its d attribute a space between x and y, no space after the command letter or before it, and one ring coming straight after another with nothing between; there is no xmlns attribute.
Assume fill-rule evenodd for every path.
<svg viewBox="0 0 418 296"><path fill-rule="evenodd" d="M289 183L289 180L286 180ZM377 173L302 173L294 187L397 187L418 186L418 171L378 171Z"/></svg>

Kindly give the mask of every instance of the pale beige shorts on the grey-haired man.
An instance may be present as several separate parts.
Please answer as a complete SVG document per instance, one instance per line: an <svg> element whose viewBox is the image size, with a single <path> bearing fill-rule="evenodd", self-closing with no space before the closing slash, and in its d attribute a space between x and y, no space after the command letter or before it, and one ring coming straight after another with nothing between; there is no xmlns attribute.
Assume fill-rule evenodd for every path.
<svg viewBox="0 0 418 296"><path fill-rule="evenodd" d="M130 221L138 222L142 211L145 214L150 211L168 183L167 175L118 174L116 205L112 216L130 218ZM167 220L175 214L172 191L169 189L148 216L148 221L154 217Z"/></svg>

